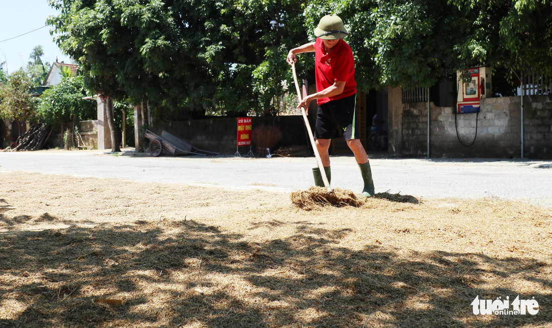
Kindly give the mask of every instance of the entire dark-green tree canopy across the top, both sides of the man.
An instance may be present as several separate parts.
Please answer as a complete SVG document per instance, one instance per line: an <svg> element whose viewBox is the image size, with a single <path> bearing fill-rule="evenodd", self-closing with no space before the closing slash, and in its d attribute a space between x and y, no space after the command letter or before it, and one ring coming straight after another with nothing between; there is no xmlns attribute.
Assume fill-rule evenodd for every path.
<svg viewBox="0 0 552 328"><path fill-rule="evenodd" d="M284 59L326 14L346 23L360 90L429 87L458 69L552 70L545 0L50 0L88 88L159 112L274 114ZM275 26L270 25L275 21ZM52 32L54 32L52 31ZM309 76L312 56L298 71ZM304 65L301 67L301 65ZM291 84L291 83L289 83Z"/></svg>

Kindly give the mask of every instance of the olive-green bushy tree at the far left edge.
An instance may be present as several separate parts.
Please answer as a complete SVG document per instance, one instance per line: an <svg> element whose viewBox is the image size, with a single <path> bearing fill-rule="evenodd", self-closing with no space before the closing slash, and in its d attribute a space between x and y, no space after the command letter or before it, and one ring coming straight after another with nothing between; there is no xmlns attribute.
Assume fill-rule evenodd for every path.
<svg viewBox="0 0 552 328"><path fill-rule="evenodd" d="M0 117L20 122L36 122L39 100L29 93L33 81L22 70L15 71L0 85Z"/></svg>

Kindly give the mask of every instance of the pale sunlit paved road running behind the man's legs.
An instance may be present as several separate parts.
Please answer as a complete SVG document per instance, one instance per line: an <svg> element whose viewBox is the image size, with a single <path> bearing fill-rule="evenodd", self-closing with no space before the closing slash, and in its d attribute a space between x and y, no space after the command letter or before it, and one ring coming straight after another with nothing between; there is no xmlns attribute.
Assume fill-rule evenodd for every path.
<svg viewBox="0 0 552 328"><path fill-rule="evenodd" d="M332 187L362 189L353 157L332 157ZM496 196L552 206L552 161L498 159L370 160L376 192L441 198ZM0 172L155 181L289 192L312 184L315 158L158 157L102 150L0 152ZM1 182L0 182L1 183Z"/></svg>

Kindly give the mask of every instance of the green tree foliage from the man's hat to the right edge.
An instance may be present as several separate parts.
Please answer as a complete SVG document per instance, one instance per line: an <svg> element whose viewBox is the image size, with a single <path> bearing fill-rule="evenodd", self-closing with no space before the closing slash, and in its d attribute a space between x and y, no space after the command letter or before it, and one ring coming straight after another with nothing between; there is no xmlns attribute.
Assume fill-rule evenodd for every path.
<svg viewBox="0 0 552 328"><path fill-rule="evenodd" d="M312 0L305 24L312 28L330 13L346 22L364 90L431 87L459 69L480 65L549 76L552 71L549 1Z"/></svg>

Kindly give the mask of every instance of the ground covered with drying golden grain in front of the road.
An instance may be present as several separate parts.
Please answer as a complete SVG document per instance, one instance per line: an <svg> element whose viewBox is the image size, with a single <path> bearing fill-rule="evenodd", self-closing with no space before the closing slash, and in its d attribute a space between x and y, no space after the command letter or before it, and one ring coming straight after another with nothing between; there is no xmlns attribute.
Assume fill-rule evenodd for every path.
<svg viewBox="0 0 552 328"><path fill-rule="evenodd" d="M1 327L550 327L552 208L0 173ZM537 300L536 315L471 302Z"/></svg>

